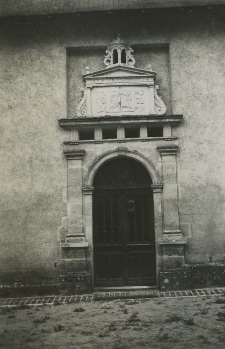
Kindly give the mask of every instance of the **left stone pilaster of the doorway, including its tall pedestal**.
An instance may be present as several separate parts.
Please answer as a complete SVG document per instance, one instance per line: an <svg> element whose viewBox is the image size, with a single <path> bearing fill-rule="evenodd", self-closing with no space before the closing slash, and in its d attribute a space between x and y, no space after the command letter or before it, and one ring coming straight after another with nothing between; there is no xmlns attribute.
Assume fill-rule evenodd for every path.
<svg viewBox="0 0 225 349"><path fill-rule="evenodd" d="M82 159L84 150L65 151L68 164L68 233L61 242L61 289L65 293L90 291L90 275L86 272L88 242L83 233ZM89 292L88 291L88 292Z"/></svg>

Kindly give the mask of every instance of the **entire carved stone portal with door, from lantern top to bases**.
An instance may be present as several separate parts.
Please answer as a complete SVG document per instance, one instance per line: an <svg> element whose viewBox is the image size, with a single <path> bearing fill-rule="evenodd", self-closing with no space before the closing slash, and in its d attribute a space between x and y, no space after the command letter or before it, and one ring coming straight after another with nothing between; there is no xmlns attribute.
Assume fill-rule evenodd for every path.
<svg viewBox="0 0 225 349"><path fill-rule="evenodd" d="M59 120L71 135L64 142L62 284L70 292L182 288L187 241L178 212L178 140L171 134L182 115L165 114L156 73L151 65L135 67L133 50L119 35L104 64L95 72L86 67L74 118Z"/></svg>

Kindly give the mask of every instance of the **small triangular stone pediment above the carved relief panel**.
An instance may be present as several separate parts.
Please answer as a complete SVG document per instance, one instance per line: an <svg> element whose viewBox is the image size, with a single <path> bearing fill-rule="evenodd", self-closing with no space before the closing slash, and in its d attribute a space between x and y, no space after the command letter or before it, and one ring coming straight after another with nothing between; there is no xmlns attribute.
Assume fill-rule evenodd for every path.
<svg viewBox="0 0 225 349"><path fill-rule="evenodd" d="M117 66L104 68L104 69L96 70L91 73L84 74L83 79L88 80L89 78L123 77L123 76L125 77L126 76L129 76L129 77L143 76L143 77L149 77L154 79L156 76L156 73L150 70L128 67L128 66L123 66L118 64Z"/></svg>

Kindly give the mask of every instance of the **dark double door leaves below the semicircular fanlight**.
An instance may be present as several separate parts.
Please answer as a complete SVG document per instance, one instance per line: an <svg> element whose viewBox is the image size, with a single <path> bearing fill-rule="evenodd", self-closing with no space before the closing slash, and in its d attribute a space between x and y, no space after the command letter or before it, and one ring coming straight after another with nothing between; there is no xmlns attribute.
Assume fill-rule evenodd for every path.
<svg viewBox="0 0 225 349"><path fill-rule="evenodd" d="M93 231L95 286L155 285L150 188L95 190Z"/></svg>

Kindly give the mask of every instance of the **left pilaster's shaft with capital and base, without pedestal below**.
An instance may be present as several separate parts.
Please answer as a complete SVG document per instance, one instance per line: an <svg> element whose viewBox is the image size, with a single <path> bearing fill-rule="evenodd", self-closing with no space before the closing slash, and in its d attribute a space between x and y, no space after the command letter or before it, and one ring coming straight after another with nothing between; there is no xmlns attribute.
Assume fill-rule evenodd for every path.
<svg viewBox="0 0 225 349"><path fill-rule="evenodd" d="M68 234L65 242L83 242L82 158L84 150L65 151L68 165Z"/></svg>

